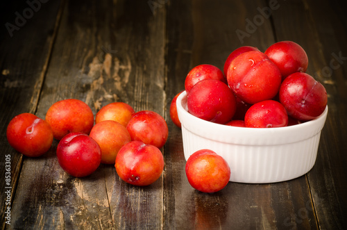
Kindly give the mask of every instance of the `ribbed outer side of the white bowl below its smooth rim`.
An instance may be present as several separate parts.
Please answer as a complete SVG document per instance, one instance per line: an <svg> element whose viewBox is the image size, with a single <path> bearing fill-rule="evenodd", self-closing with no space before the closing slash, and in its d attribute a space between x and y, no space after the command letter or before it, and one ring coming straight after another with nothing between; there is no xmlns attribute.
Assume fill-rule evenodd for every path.
<svg viewBox="0 0 347 230"><path fill-rule="evenodd" d="M182 127L186 160L200 149L211 149L229 164L230 181L275 183L309 172L315 161L321 132L285 145L235 145L203 138Z"/></svg>

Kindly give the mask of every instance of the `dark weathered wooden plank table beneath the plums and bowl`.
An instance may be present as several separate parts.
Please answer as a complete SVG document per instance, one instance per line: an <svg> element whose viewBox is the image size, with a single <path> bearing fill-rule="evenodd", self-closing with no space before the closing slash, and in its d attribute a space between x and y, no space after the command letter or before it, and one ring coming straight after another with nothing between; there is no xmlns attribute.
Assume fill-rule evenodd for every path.
<svg viewBox="0 0 347 230"><path fill-rule="evenodd" d="M346 1L1 5L1 228L347 229ZM169 117L171 99L184 89L192 67L223 69L237 47L265 51L280 40L301 44L309 57L307 73L328 92L314 167L291 181L230 182L214 194L194 190L185 176L181 131ZM85 101L94 114L113 101L160 113L169 126L160 179L130 186L114 165L77 179L58 165L57 140L39 158L8 145L12 117L28 112L44 118L51 104L68 98Z"/></svg>

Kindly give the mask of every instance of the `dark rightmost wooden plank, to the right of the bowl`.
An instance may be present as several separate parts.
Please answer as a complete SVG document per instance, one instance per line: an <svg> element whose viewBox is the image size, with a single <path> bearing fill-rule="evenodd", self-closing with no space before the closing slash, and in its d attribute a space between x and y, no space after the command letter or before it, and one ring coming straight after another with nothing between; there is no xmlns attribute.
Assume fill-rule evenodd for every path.
<svg viewBox="0 0 347 230"><path fill-rule="evenodd" d="M340 117L346 113L346 38L345 20L337 17L342 3L328 1L294 1L284 3L273 13L279 40L294 40L309 57L307 73L323 83L328 92L328 118L321 133L321 142L313 169L307 174L316 218L321 229L346 229L347 172L346 129ZM289 6L287 6L289 5ZM295 17L293 17L295 15ZM289 20L289 18L291 18ZM301 26L297 26L300 24ZM336 58L340 57L340 58ZM334 166L332 166L334 165ZM339 170L335 170L335 169ZM327 215L332 213L332 215Z"/></svg>

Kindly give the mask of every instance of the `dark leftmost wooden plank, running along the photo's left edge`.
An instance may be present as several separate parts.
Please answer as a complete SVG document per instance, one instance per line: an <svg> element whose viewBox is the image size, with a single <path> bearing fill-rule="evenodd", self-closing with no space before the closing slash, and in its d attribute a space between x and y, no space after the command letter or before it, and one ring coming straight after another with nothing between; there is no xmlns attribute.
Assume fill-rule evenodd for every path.
<svg viewBox="0 0 347 230"><path fill-rule="evenodd" d="M4 2L1 6L0 30L0 228L9 226L6 216L12 217L11 207L22 168L22 154L17 153L6 140L6 128L12 117L19 113L35 113L49 55L56 36L60 1L40 3L35 10L25 1ZM27 13L24 18L24 13ZM29 14L28 14L29 13ZM58 16L57 16L58 15ZM23 19L20 19L23 17ZM6 27L7 26L7 27ZM6 158L10 158L7 161ZM10 175L5 174L6 162ZM5 176L10 176L6 181ZM8 178L8 179L9 179ZM10 184L7 184L10 183ZM5 192L8 192L5 194ZM10 199L8 199L10 197ZM7 211L7 213L5 213Z"/></svg>

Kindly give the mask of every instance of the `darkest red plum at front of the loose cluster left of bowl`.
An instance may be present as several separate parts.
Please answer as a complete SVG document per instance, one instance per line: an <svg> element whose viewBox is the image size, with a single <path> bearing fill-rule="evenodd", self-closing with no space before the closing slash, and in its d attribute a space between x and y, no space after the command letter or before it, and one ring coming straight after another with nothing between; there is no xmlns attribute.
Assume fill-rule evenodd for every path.
<svg viewBox="0 0 347 230"><path fill-rule="evenodd" d="M88 176L101 163L101 149L89 135L69 133L58 144L57 158L60 167L71 176Z"/></svg>

